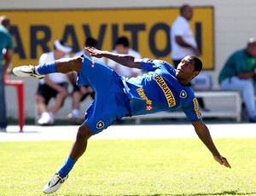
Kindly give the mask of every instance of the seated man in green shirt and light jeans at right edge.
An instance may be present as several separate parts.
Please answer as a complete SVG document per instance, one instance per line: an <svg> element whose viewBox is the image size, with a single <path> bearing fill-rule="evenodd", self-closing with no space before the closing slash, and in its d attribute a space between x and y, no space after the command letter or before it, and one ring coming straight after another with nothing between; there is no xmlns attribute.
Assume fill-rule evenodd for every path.
<svg viewBox="0 0 256 196"><path fill-rule="evenodd" d="M224 90L238 90L247 108L249 121L256 123L255 95L256 38L251 37L245 49L234 52L225 62L218 82Z"/></svg>

